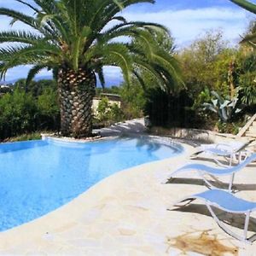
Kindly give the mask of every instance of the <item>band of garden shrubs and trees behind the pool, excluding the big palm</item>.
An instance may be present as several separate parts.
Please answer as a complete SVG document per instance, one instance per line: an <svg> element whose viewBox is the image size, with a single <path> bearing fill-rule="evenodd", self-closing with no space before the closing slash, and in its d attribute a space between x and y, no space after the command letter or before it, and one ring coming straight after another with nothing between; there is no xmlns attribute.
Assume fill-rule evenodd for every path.
<svg viewBox="0 0 256 256"><path fill-rule="evenodd" d="M254 30L252 21L245 36ZM95 96L117 94L122 103L120 108L110 106L108 97L102 97L93 118L94 127L145 115L153 126L167 130L178 127L236 134L246 124L256 109L256 57L252 45L230 46L219 30L206 32L180 50L175 49L174 41L170 50L179 63L182 82L168 88L144 72L143 86L133 79L131 84L96 88ZM26 79L20 79L9 88L0 98L1 140L22 134L38 138L40 131L60 131L55 80L32 81L26 86Z"/></svg>

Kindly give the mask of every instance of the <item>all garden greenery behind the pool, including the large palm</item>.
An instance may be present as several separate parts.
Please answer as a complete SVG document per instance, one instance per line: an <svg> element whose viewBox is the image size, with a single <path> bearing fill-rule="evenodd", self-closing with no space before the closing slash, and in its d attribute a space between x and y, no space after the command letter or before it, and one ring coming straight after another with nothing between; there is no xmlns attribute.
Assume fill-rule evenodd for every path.
<svg viewBox="0 0 256 256"><path fill-rule="evenodd" d="M231 2L254 11L252 3ZM81 2L85 10L89 3ZM118 14L131 3L111 2L111 8ZM224 32L217 28L205 32L189 45L180 46L171 32L159 24L128 22L123 17L110 15L108 19L118 20L117 25L102 32L108 19L99 24L95 19L101 20L100 16L92 15L89 30L85 26L88 20L82 18L82 8L75 9L79 20L72 21L73 5L69 2L62 6L37 1L44 15L36 7L23 4L38 16L0 9L0 15L14 19L11 22L20 20L40 34L0 33L1 42L9 43L0 53L1 79L11 67L33 64L27 79L17 80L9 88L1 87L2 141L22 138L24 134L26 138L38 137L41 131L67 137L90 137L93 128L143 116L149 117L152 127L236 134L255 113L254 20L237 44L224 39ZM94 8L98 4L100 2L94 3ZM56 10L63 17L69 15L70 20L65 21L62 16L48 20L47 13ZM56 31L60 37L55 36ZM119 37L128 37L130 41L113 42ZM122 84L105 87L103 67L106 65L120 67L124 77ZM54 79L33 80L45 67L53 71ZM108 97L102 97L106 93L120 96L121 104L110 104ZM93 113L91 106L95 96L102 101Z"/></svg>

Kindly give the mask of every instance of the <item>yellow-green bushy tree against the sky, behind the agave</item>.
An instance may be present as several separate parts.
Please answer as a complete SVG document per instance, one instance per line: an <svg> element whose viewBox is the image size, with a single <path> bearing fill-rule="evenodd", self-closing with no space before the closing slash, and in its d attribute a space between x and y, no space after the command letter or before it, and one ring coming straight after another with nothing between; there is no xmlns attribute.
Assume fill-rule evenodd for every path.
<svg viewBox="0 0 256 256"><path fill-rule="evenodd" d="M228 71L233 53L227 49L223 32L209 31L178 54L183 70L183 80L191 96L206 87L220 89Z"/></svg>

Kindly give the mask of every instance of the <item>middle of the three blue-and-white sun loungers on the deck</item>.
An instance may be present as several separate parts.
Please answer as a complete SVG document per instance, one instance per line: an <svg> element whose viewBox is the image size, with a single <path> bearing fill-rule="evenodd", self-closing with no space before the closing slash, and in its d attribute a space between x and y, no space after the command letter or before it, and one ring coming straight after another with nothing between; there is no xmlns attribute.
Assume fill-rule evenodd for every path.
<svg viewBox="0 0 256 256"><path fill-rule="evenodd" d="M207 179L204 177L204 174L211 174L212 176L230 175L229 190L231 191L236 172L240 172L245 166L252 163L253 160L256 160L256 153L252 154L250 157L248 157L246 160L242 161L237 166L231 166L231 167L227 167L227 168L216 168L216 167L207 166L207 165L203 165L203 164L189 164L189 165L186 165L186 166L183 166L183 167L177 169L175 172L172 172L171 178L174 175L176 175L178 172L186 172L186 171L194 170L194 171L198 172L198 174L202 177L202 179L205 181L205 183L207 183L207 185L210 188L216 189L212 185L212 183L207 181ZM256 174L256 172L255 172L255 174Z"/></svg>

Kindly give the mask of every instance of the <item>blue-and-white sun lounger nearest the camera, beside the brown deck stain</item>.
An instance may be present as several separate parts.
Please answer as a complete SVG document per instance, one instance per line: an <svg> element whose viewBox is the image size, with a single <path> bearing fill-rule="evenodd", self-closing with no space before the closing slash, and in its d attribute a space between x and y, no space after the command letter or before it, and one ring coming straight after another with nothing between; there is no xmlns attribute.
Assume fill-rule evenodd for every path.
<svg viewBox="0 0 256 256"><path fill-rule="evenodd" d="M212 189L202 192L200 194L191 195L183 198L183 200L178 201L175 205L184 202L184 201L194 201L196 199L200 199L204 201L207 206L209 212L212 214L212 217L217 222L218 226L223 229L230 236L235 237L240 241L245 241L247 243L252 243L253 237L247 238L247 230L250 220L251 212L256 211L256 203L252 201L245 201L241 198L236 197L235 195L230 194L221 189ZM187 205L187 204L186 204ZM243 213L245 214L245 223L243 236L236 235L233 231L231 231L225 224L223 224L217 215L213 212L212 207L217 207L225 212L231 213Z"/></svg>

